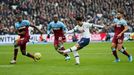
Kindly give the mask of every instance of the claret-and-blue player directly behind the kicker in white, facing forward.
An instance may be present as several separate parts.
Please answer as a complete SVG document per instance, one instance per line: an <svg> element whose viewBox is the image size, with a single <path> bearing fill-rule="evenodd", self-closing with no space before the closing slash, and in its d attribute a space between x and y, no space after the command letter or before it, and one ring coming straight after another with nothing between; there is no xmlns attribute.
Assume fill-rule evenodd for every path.
<svg viewBox="0 0 134 75"><path fill-rule="evenodd" d="M55 14L53 16L53 21L48 24L47 38L50 38L50 31L51 30L54 33L55 50L57 52L59 52L58 50L65 50L63 43L66 40L64 33L66 32L67 28L63 22L58 20L57 14ZM62 54L62 55L65 56L65 60L70 60L70 56L68 54Z"/></svg>

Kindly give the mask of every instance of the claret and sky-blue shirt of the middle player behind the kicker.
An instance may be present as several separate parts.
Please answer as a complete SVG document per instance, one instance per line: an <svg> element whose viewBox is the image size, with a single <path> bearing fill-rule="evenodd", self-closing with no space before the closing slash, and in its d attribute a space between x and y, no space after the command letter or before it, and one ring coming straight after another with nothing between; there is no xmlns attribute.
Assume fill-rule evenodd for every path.
<svg viewBox="0 0 134 75"><path fill-rule="evenodd" d="M64 36L64 30L66 30L65 25L60 21L56 23L54 21L50 22L49 28L53 30L55 37Z"/></svg>

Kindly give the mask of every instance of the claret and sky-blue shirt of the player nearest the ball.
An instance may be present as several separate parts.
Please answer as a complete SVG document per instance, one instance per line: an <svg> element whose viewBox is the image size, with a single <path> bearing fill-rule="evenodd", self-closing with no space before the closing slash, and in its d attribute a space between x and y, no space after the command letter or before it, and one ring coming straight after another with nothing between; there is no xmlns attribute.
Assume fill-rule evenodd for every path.
<svg viewBox="0 0 134 75"><path fill-rule="evenodd" d="M21 22L15 23L15 28L17 30L25 31L25 34L20 35L20 36L29 36L29 30L28 30L29 25L30 25L30 22L28 20L22 20Z"/></svg>

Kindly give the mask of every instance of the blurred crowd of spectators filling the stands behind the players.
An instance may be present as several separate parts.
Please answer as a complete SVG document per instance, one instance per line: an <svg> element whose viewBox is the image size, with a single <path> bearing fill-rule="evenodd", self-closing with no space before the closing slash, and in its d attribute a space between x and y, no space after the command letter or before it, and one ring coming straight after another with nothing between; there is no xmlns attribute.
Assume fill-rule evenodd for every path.
<svg viewBox="0 0 134 75"><path fill-rule="evenodd" d="M75 26L75 17L98 25L110 25L117 8L125 12L128 32L134 32L134 0L0 0L0 35L15 34L16 15L23 15L44 33L54 14L59 15L68 30ZM92 28L92 33L100 29ZM102 30L105 31L105 30ZM113 32L109 29L107 32ZM38 33L32 30L32 33Z"/></svg>

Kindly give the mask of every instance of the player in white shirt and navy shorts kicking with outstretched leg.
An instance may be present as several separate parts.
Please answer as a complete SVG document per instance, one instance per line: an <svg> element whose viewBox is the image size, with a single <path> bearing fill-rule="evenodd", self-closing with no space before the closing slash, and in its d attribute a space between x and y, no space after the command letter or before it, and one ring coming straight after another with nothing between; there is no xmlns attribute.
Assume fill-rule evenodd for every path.
<svg viewBox="0 0 134 75"><path fill-rule="evenodd" d="M73 32L78 32L81 34L82 38L73 47L70 47L64 51L59 51L59 52L63 54L68 54L70 52L73 52L75 60L76 60L76 65L79 65L80 61L79 61L78 50L84 48L85 46L89 44L90 35L91 35L89 32L89 28L91 28L92 26L103 28L104 26L95 25L95 24L88 23L88 22L82 22L81 17L76 18L76 24L77 26L75 26L74 29L67 31L66 33L69 34Z"/></svg>

